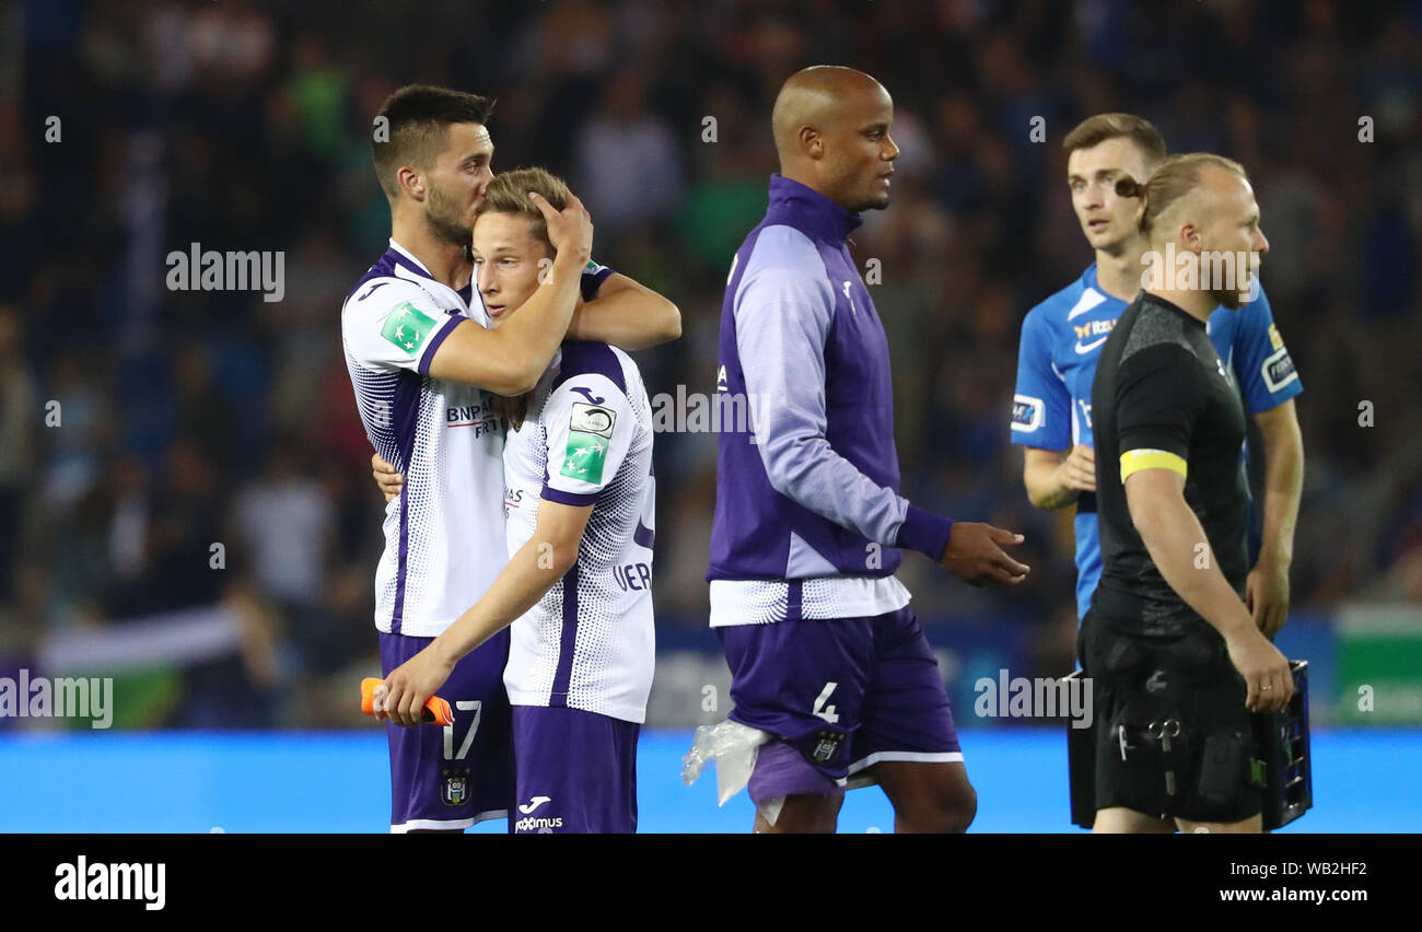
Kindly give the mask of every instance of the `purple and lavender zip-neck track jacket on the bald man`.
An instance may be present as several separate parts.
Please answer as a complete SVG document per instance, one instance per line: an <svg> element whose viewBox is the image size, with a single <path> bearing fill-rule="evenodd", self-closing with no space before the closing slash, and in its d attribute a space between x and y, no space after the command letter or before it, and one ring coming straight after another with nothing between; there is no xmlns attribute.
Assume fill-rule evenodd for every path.
<svg viewBox="0 0 1422 932"><path fill-rule="evenodd" d="M846 236L860 223L774 175L721 305L711 626L897 612L900 548L951 522L899 494L889 340Z"/></svg>

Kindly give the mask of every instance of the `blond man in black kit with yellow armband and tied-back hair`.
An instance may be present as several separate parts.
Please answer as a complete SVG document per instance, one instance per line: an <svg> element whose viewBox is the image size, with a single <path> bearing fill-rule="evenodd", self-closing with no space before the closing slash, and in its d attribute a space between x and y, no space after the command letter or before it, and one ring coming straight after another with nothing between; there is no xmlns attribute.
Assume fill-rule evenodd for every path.
<svg viewBox="0 0 1422 932"><path fill-rule="evenodd" d="M1140 198L1155 265L1092 388L1105 562L1081 637L1101 723L1094 830L1257 832L1249 713L1281 709L1294 687L1241 598L1246 421L1206 320L1249 300L1268 240L1227 158L1176 155L1145 185L1119 184Z"/></svg>

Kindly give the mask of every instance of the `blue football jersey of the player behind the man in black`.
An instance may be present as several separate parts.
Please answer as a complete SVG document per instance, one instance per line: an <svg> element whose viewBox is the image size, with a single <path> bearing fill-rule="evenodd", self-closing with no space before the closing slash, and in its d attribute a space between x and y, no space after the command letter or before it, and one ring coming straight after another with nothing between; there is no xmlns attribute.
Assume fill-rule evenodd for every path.
<svg viewBox="0 0 1422 932"><path fill-rule="evenodd" d="M1017 357L1012 443L1068 451L1092 443L1091 384L1096 359L1126 302L1096 283L1096 265L1028 312ZM1234 373L1250 414L1267 411L1304 390L1263 287L1237 312L1217 307L1207 322L1210 340ZM1076 610L1086 615L1101 579L1096 497L1076 501Z"/></svg>

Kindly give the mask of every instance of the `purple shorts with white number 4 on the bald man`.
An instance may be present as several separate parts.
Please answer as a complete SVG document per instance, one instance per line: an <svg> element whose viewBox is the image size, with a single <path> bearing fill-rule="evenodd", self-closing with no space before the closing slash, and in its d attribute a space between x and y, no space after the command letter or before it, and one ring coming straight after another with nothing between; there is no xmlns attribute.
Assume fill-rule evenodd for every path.
<svg viewBox="0 0 1422 932"><path fill-rule="evenodd" d="M875 618L718 627L731 720L781 738L761 747L757 803L869 785L879 761L963 760L948 693L909 608Z"/></svg>

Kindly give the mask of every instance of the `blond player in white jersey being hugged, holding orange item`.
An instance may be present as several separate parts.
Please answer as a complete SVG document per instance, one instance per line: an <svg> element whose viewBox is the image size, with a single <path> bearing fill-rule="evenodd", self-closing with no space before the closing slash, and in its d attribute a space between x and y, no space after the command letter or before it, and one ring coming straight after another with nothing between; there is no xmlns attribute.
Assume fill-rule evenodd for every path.
<svg viewBox="0 0 1422 932"><path fill-rule="evenodd" d="M495 326L528 313L556 255L523 192L572 202L542 169L499 175L474 228ZM501 326L502 324L502 326ZM515 831L636 831L636 756L654 663L651 407L626 353L566 341L505 448L509 563L454 625L385 683L415 724L461 657L512 625Z"/></svg>

